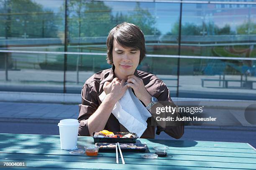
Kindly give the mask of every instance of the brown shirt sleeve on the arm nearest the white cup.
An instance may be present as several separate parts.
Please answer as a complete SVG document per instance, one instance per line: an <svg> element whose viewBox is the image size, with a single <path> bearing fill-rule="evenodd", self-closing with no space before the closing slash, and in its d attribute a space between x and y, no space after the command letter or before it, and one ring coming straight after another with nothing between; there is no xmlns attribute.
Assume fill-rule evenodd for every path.
<svg viewBox="0 0 256 170"><path fill-rule="evenodd" d="M85 82L82 88L82 104L79 105L79 136L90 136L88 130L88 118L97 110L99 107L98 100L95 96L97 96L97 92L90 87L90 85Z"/></svg>

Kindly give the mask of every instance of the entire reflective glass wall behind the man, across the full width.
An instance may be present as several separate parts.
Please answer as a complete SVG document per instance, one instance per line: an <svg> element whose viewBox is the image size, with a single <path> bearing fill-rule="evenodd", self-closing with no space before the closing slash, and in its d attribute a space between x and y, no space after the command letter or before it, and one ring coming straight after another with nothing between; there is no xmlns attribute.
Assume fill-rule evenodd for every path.
<svg viewBox="0 0 256 170"><path fill-rule="evenodd" d="M0 0L0 90L80 93L111 67L108 32L130 22L146 39L138 70L171 96L256 100L256 4L239 3Z"/></svg>

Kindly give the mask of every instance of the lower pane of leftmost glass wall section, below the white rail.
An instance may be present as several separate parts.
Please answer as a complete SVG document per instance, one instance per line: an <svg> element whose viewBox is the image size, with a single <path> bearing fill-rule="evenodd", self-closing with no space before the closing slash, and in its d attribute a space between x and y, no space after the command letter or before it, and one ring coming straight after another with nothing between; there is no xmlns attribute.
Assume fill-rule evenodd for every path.
<svg viewBox="0 0 256 170"><path fill-rule="evenodd" d="M7 53L12 57L12 67L0 70L0 91L63 92L63 62L56 57L63 55ZM6 53L5 53L6 56ZM45 69L41 62L56 62L61 65Z"/></svg>

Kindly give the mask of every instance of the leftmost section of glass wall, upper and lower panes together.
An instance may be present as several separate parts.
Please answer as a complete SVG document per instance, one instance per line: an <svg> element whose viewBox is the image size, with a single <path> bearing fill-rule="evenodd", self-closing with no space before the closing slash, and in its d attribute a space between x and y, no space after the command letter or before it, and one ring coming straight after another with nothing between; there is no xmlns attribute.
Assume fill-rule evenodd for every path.
<svg viewBox="0 0 256 170"><path fill-rule="evenodd" d="M63 92L64 0L0 0L0 90ZM41 53L29 53L29 52Z"/></svg>

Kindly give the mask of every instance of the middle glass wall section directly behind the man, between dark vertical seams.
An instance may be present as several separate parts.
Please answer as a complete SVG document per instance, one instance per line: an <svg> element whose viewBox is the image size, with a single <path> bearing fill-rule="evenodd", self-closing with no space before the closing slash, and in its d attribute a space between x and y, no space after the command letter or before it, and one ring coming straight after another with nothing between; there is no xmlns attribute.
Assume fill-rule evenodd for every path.
<svg viewBox="0 0 256 170"><path fill-rule="evenodd" d="M143 30L147 54L178 54L178 33L172 32L172 25L179 20L178 3L69 0L67 7L69 52L105 53L108 32L118 23L129 22ZM72 82L78 80L79 85L85 82L87 76L79 75L82 78L77 78L72 76L72 72L79 70L92 75L93 72L111 67L105 61L105 56L94 55L69 55L67 66L67 79ZM168 82L172 81L169 87L172 94L176 95L177 59L146 57L138 70L154 73Z"/></svg>

